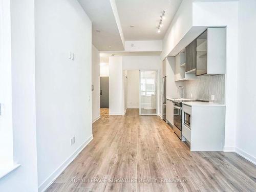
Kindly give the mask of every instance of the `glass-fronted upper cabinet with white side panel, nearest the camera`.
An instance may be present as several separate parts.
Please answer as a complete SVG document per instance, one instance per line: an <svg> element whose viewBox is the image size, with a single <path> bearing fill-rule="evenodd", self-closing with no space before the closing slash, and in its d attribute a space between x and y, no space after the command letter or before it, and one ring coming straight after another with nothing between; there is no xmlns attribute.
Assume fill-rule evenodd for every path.
<svg viewBox="0 0 256 192"><path fill-rule="evenodd" d="M196 75L226 72L226 28L208 28L196 39Z"/></svg>

